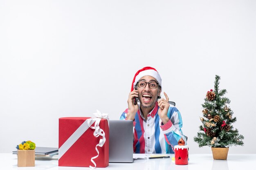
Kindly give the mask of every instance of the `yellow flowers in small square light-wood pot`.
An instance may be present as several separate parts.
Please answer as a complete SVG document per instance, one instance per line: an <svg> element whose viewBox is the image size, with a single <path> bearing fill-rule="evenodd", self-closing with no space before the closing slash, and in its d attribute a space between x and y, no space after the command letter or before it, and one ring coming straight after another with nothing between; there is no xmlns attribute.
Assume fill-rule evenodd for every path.
<svg viewBox="0 0 256 170"><path fill-rule="evenodd" d="M18 149L18 167L35 166L36 144L34 142L22 141L16 148Z"/></svg>

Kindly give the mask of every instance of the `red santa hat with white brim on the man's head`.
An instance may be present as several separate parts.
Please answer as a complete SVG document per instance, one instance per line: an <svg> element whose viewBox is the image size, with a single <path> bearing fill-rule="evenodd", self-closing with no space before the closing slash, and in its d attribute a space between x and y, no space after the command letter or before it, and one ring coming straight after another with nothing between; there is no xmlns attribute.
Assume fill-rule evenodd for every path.
<svg viewBox="0 0 256 170"><path fill-rule="evenodd" d="M157 70L153 67L144 67L144 68L140 69L139 71L137 71L137 73L135 73L134 78L132 80L131 91L133 91L133 89L135 88L137 82L141 79L141 77L144 77L146 75L154 77L157 80L159 86L162 87L162 79L161 79L159 73L157 72Z"/></svg>

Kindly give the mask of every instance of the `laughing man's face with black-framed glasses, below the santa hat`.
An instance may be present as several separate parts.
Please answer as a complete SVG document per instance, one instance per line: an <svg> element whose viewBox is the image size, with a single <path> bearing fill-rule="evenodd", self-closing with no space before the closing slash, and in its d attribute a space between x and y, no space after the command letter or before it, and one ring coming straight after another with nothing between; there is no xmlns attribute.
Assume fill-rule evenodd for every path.
<svg viewBox="0 0 256 170"><path fill-rule="evenodd" d="M141 77L139 81L157 82L155 78L149 75ZM152 89L152 88L149 88L149 84L146 84L145 88L139 88L138 86L137 90L139 91L139 103L141 107L150 108L155 106L155 102L157 101L157 96L159 96L161 92L159 90L159 87Z"/></svg>

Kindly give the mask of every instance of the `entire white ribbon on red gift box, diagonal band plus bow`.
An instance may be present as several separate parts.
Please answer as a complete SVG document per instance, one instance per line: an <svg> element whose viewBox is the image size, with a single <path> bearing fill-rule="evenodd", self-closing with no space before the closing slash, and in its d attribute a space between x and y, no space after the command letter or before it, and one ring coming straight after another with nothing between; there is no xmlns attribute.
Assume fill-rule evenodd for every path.
<svg viewBox="0 0 256 170"><path fill-rule="evenodd" d="M101 113L99 110L97 110L97 113L93 113L95 117L92 117L90 119L87 119L79 126L79 128L76 129L76 131L64 142L64 144L58 149L58 159L61 159L61 157L67 152L67 150L83 135L83 133L90 127L94 130L93 135L95 137L102 136L102 139L100 139L99 144L96 145L95 150L97 151L97 156L92 157L91 161L96 167L96 163L93 161L93 159L97 158L99 156L99 150L97 149L97 146L102 147L106 141L105 132L99 127L99 122L101 119L107 119L108 120L108 114ZM92 127L92 124L95 122L94 127ZM109 121L108 121L109 124ZM95 168L90 166L90 168Z"/></svg>

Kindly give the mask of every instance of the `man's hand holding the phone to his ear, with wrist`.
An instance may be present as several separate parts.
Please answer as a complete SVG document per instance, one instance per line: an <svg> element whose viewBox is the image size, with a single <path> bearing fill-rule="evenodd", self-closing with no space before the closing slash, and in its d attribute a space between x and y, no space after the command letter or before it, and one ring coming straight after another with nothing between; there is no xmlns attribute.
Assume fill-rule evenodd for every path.
<svg viewBox="0 0 256 170"><path fill-rule="evenodd" d="M136 89L134 89L133 91L131 91L129 93L129 97L128 97L128 113L127 113L127 119L128 120L134 120L135 118L135 114L137 113L137 111L139 110L139 106L137 104L137 99L135 99L136 97L139 97L139 93Z"/></svg>

